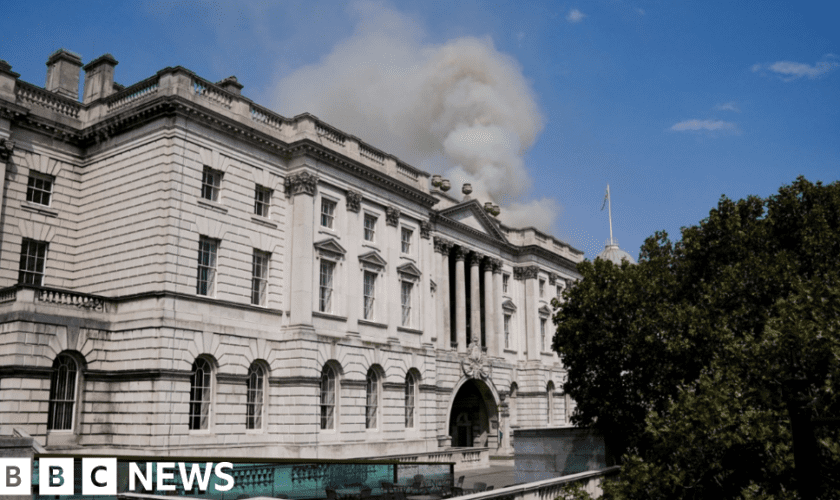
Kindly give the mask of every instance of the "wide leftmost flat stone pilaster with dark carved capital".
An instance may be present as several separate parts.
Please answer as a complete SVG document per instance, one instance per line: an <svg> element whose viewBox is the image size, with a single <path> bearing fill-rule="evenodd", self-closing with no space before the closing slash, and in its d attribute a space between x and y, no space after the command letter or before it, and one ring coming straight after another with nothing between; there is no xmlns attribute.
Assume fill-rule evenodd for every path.
<svg viewBox="0 0 840 500"><path fill-rule="evenodd" d="M291 303L289 324L312 325L315 254L315 188L318 176L303 171L286 177L292 202Z"/></svg>

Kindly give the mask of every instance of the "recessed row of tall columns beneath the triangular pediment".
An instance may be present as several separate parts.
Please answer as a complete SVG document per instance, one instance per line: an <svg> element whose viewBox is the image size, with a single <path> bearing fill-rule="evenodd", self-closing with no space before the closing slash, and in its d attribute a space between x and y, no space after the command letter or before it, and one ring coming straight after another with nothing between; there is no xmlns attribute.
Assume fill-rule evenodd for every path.
<svg viewBox="0 0 840 500"><path fill-rule="evenodd" d="M504 345L504 319L502 316L502 261L443 238L435 237L435 275L439 279L437 300L438 348L456 348L467 351L471 344L486 348L490 356L501 356ZM450 272L454 259L454 273ZM467 291L467 266L469 266L469 291ZM483 272L484 294L481 293ZM453 274L455 283L450 282ZM469 295L467 293L469 292ZM452 294L455 295L454 300ZM481 302L484 302L482 314ZM451 310L454 303L454 314ZM467 306L469 303L469 311ZM469 322L467 318L469 317ZM454 319L454 325L453 323ZM455 339L452 341L454 326ZM482 342L482 326L484 341ZM469 334L469 337L467 336Z"/></svg>

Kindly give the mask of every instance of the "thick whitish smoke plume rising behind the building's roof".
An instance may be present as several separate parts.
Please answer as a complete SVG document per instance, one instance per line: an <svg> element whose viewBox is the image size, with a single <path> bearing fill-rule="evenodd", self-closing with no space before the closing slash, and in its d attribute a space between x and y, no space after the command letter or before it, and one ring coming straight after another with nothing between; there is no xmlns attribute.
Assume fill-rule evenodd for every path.
<svg viewBox="0 0 840 500"><path fill-rule="evenodd" d="M392 8L352 4L354 33L316 64L282 78L274 109L310 112L406 162L464 182L502 206L502 221L550 230L555 200L526 202L523 157L542 130L533 91L490 39L423 41L420 24ZM313 36L317 34L313 33Z"/></svg>

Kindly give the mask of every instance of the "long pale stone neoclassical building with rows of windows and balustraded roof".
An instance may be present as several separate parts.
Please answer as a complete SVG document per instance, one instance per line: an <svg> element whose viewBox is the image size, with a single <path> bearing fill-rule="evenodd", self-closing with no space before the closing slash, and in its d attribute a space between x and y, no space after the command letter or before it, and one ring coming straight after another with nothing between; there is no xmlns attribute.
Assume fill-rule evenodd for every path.
<svg viewBox="0 0 840 500"><path fill-rule="evenodd" d="M567 423L551 301L582 252L236 78L116 65L0 61L3 433L351 458Z"/></svg>

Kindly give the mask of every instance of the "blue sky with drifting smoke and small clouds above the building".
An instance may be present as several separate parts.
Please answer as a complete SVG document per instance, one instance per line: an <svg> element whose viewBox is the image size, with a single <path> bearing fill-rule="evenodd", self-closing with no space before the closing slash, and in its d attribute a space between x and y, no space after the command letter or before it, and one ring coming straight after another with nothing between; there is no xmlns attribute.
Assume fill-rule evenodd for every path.
<svg viewBox="0 0 840 500"><path fill-rule="evenodd" d="M452 109L510 154L507 177L487 181L503 210L519 203L507 214L592 258L609 237L609 183L615 237L635 257L654 231L679 238L722 194L840 179L838 19L838 2L14 2L0 59L38 85L60 47L85 62L113 54L126 85L165 66L236 75L280 114L312 111L459 185L478 144L453 146L467 118L441 132L441 116L417 107L433 106L430 88L459 95L429 83L454 57L495 78L488 99L501 104Z"/></svg>

